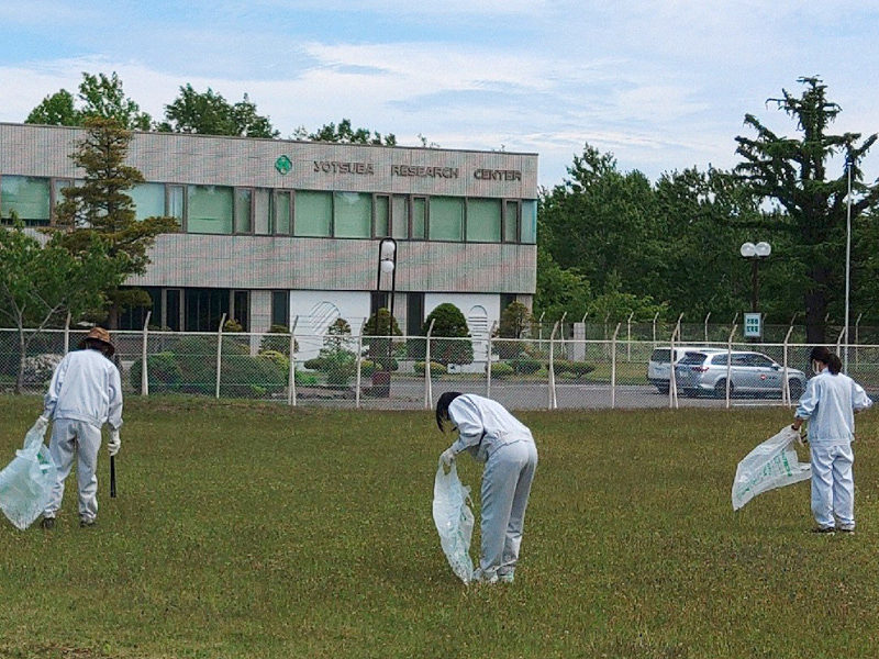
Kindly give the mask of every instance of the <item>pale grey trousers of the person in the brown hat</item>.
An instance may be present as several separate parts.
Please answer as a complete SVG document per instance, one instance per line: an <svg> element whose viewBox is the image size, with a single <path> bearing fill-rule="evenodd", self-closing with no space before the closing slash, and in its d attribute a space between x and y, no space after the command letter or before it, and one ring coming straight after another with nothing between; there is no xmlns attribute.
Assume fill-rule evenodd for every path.
<svg viewBox="0 0 879 659"><path fill-rule="evenodd" d="M76 480L79 487L79 518L93 522L98 515L98 450L101 448L101 428L70 418L56 418L52 424L48 449L58 469L58 480L52 489L44 517L54 517L62 507L64 481L77 459Z"/></svg>

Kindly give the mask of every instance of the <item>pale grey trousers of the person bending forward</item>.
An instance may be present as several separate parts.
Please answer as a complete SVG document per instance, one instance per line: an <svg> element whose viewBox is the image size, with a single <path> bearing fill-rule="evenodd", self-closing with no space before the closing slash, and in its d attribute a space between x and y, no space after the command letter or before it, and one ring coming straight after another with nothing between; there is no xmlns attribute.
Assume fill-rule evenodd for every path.
<svg viewBox="0 0 879 659"><path fill-rule="evenodd" d="M537 447L531 439L496 449L482 472L482 556L486 578L515 571L531 482L537 468Z"/></svg>

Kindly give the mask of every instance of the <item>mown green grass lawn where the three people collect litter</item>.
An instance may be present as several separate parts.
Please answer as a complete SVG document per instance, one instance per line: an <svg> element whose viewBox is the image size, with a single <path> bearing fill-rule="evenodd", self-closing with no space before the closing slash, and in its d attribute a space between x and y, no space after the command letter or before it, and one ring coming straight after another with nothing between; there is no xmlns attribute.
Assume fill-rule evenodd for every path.
<svg viewBox="0 0 879 659"><path fill-rule="evenodd" d="M0 399L2 465L40 411ZM808 483L732 511L790 411L520 416L541 463L516 583L465 588L431 516L432 414L132 398L97 528L73 478L54 530L1 520L0 657L877 656L879 413L854 537L806 533Z"/></svg>

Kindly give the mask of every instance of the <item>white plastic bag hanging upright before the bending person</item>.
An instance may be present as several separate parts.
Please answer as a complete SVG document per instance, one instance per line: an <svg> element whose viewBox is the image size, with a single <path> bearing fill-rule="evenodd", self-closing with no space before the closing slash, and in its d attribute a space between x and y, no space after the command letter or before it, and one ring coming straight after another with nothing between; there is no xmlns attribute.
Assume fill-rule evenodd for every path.
<svg viewBox="0 0 879 659"><path fill-rule="evenodd" d="M469 499L470 488L461 484L455 463L446 473L441 461L433 485L433 521L448 565L464 583L470 583L474 578L470 558L474 513Z"/></svg>

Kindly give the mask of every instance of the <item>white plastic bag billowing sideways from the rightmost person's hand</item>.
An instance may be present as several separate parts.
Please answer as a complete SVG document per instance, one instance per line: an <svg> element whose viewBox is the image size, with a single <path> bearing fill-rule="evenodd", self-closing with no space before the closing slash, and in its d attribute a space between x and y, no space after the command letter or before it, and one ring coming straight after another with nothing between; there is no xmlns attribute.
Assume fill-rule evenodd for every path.
<svg viewBox="0 0 879 659"><path fill-rule="evenodd" d="M786 426L750 451L738 463L733 481L733 510L757 494L812 478L809 462L800 462L794 444L799 433Z"/></svg>

